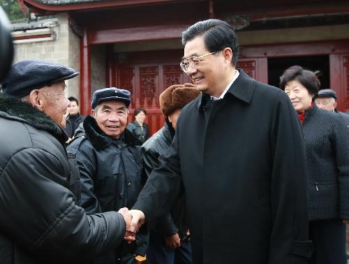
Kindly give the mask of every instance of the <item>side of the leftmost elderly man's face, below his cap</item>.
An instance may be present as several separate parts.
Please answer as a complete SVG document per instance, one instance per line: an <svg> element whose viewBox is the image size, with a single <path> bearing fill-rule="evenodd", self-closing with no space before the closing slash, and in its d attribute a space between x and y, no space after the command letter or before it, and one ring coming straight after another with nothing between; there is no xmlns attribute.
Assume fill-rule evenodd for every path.
<svg viewBox="0 0 349 264"><path fill-rule="evenodd" d="M70 103L64 94L65 87L64 82L58 82L38 90L42 100L41 110L63 128L66 126L64 114Z"/></svg>

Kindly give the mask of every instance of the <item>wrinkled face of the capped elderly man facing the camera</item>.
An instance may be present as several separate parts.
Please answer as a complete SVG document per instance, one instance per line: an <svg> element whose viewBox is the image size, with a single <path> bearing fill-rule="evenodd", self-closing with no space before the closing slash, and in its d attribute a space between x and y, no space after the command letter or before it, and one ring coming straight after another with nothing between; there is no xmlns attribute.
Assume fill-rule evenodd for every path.
<svg viewBox="0 0 349 264"><path fill-rule="evenodd" d="M101 131L111 138L119 138L126 128L128 109L121 101L102 102L91 114Z"/></svg>

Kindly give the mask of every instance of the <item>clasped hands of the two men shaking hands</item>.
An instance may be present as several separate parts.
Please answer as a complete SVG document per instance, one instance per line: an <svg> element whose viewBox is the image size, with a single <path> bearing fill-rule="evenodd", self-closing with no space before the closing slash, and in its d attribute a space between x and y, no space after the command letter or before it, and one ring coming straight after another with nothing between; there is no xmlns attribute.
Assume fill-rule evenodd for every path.
<svg viewBox="0 0 349 264"><path fill-rule="evenodd" d="M126 207L118 211L126 222L126 233L124 240L131 243L135 240L135 235L145 221L145 216L140 210L128 210Z"/></svg>

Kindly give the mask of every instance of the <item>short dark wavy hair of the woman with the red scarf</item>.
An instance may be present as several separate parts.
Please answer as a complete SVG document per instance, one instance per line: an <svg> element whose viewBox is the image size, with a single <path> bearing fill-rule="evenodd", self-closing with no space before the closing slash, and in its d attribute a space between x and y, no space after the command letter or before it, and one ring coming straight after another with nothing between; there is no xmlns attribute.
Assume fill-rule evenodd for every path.
<svg viewBox="0 0 349 264"><path fill-rule="evenodd" d="M320 80L312 71L304 70L301 66L291 66L280 78L280 89L285 90L288 82L297 80L309 91L309 94L316 95L320 89Z"/></svg>

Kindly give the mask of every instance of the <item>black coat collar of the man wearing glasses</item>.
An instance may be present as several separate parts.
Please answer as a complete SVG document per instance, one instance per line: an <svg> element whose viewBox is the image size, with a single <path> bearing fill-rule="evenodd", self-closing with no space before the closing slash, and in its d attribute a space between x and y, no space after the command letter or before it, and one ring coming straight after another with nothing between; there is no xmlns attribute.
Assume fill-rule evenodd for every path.
<svg viewBox="0 0 349 264"><path fill-rule="evenodd" d="M239 77L237 80L235 80L235 82L232 83L232 86L230 86L224 98L228 97L228 94L230 94L230 96L235 96L239 100L249 104L251 103L251 99L255 91L255 80L244 73L242 69L237 71L239 71ZM201 100L198 102L199 110L202 110L202 106L206 105L208 100L210 100L210 96L202 93Z"/></svg>

